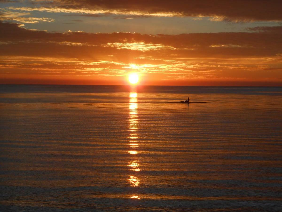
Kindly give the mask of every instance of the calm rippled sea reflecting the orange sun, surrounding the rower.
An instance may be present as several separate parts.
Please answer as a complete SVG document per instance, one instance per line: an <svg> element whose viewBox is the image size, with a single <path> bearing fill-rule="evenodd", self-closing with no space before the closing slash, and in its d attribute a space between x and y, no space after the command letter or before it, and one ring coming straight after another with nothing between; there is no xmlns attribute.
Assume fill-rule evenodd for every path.
<svg viewBox="0 0 282 212"><path fill-rule="evenodd" d="M0 88L1 211L282 210L282 87Z"/></svg>

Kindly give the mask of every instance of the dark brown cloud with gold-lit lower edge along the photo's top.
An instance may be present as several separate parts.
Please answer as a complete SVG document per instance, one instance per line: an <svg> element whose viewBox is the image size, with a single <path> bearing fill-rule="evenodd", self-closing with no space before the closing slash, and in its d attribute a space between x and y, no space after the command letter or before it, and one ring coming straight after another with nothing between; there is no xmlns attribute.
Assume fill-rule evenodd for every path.
<svg viewBox="0 0 282 212"><path fill-rule="evenodd" d="M75 12L85 14L113 13L141 16L189 16L212 17L219 21L281 21L282 4L277 0L57 0L36 1L34 7L14 8L16 10L39 10L47 12ZM36 7L37 6L37 7Z"/></svg>

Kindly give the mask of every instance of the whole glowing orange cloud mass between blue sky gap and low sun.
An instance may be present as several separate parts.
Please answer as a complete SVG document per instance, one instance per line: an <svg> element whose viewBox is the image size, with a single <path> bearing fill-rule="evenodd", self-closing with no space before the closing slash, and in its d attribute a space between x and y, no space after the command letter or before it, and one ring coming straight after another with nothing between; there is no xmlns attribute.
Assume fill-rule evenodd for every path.
<svg viewBox="0 0 282 212"><path fill-rule="evenodd" d="M50 33L0 22L0 74L282 81L282 27L247 33Z"/></svg>

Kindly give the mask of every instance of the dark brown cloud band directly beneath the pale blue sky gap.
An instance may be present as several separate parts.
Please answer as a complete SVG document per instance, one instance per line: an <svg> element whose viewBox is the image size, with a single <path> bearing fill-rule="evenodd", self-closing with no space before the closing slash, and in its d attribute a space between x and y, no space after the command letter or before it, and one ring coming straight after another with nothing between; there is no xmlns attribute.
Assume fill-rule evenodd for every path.
<svg viewBox="0 0 282 212"><path fill-rule="evenodd" d="M46 31L31 31L19 27L16 23L0 23L0 41L54 41L54 42L77 42L91 45L105 44L134 44L143 43L170 46L175 51L206 51L210 53L221 51L246 51L246 53L257 51L260 48L264 52L271 50L281 53L281 29L282 27L263 28L264 31L250 33L190 33L178 35L148 35L139 33L84 33L84 32L65 32L49 33ZM271 30L266 30L271 29ZM275 30L274 30L275 29ZM251 30L251 29L250 29ZM257 28L253 28L257 31ZM119 45L120 46L120 45ZM227 48L228 47L228 48ZM241 50L240 50L241 49ZM242 54L244 54L242 52Z"/></svg>

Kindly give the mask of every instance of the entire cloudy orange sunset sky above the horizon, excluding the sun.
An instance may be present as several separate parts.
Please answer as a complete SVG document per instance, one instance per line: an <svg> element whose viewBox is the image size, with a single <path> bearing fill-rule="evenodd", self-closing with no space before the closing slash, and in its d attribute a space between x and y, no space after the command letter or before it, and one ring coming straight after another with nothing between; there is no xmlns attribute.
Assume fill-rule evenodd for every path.
<svg viewBox="0 0 282 212"><path fill-rule="evenodd" d="M0 83L282 86L280 0L0 0Z"/></svg>

